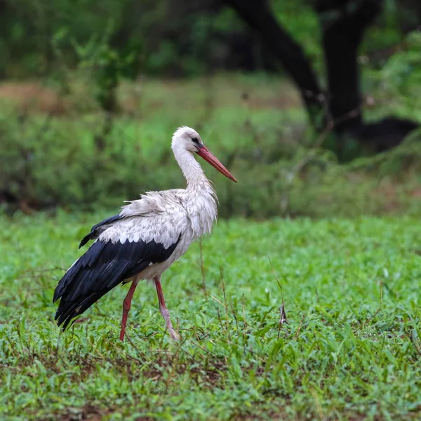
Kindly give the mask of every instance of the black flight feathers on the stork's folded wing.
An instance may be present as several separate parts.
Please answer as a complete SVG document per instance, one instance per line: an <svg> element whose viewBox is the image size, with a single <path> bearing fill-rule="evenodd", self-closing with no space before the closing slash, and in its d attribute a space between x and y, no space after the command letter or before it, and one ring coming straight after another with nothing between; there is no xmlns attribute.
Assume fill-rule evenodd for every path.
<svg viewBox="0 0 421 421"><path fill-rule="evenodd" d="M119 283L142 272L150 263L167 260L180 237L168 248L155 241L95 241L67 270L55 288L53 302L61 298L55 313L58 326L63 325L62 329L65 330L76 316L82 314Z"/></svg>

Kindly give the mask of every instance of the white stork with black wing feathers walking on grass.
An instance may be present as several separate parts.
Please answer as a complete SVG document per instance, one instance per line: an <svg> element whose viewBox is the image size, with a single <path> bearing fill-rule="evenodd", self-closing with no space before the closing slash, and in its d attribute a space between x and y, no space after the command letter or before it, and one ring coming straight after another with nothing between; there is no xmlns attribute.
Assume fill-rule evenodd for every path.
<svg viewBox="0 0 421 421"><path fill-rule="evenodd" d="M192 128L178 128L171 147L187 180L187 189L147 192L139 200L129 201L118 215L92 227L79 248L89 240L95 242L55 288L53 302L60 298L55 320L63 330L109 290L119 283L131 282L123 300L120 331L123 340L133 293L140 280L149 279L155 283L168 333L178 340L163 299L161 275L186 253L192 241L211 232L217 217L215 190L194 154L230 180L236 179Z"/></svg>

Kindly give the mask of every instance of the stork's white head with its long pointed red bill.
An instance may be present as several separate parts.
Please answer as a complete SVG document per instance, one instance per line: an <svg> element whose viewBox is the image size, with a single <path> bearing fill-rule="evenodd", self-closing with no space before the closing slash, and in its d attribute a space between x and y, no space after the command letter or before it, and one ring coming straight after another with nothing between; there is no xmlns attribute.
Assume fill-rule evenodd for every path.
<svg viewBox="0 0 421 421"><path fill-rule="evenodd" d="M203 140L199 133L192 128L187 126L179 127L173 134L173 142L171 147L175 152L176 149L185 149L188 152L198 154L205 161L210 163L211 166L216 168L221 174L229 178L229 180L235 181L234 175L230 173L225 166L220 163L218 158L210 152L210 150L204 145Z"/></svg>

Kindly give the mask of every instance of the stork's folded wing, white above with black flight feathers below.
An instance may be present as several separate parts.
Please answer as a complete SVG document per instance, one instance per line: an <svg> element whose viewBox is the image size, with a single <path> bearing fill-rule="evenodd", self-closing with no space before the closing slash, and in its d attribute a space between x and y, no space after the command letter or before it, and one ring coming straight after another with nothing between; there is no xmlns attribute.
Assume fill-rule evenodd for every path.
<svg viewBox="0 0 421 421"><path fill-rule="evenodd" d="M61 298L55 314L58 326L63 324L64 330L119 283L173 254L185 232L187 216L182 208L167 210L145 216L112 217L93 227L82 243L98 239L55 288L53 301Z"/></svg>

